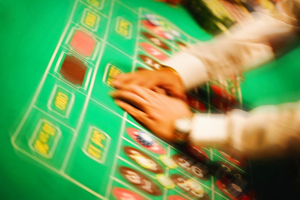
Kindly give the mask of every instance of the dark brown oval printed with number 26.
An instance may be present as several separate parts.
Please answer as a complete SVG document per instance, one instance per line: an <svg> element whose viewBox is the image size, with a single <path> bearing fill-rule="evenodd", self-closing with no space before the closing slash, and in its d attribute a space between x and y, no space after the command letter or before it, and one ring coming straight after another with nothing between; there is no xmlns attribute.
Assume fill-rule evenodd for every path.
<svg viewBox="0 0 300 200"><path fill-rule="evenodd" d="M204 164L196 162L190 157L180 154L172 155L172 159L180 168L182 168L193 177L199 178L201 180L208 180L210 178L209 169Z"/></svg>

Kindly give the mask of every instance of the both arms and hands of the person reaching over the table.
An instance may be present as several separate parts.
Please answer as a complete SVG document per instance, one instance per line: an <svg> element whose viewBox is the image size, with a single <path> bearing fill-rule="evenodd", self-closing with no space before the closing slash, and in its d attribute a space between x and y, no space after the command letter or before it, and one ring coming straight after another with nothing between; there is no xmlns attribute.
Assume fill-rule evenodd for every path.
<svg viewBox="0 0 300 200"><path fill-rule="evenodd" d="M274 11L271 16L260 14L258 21L232 36L220 36L212 42L190 46L168 60L166 65L179 72L188 90L210 78L239 74L270 60L275 56L274 52L289 46L288 43L294 42L299 34L300 1L283 0L277 8L279 11ZM253 64L254 60L259 60L259 63ZM116 86L121 90L113 94L114 98L119 99L116 103L152 132L172 141L174 120L190 116L191 112L184 101L152 90L168 86L167 91L172 94L172 86L176 85L179 88L176 91L182 93L180 81L174 81L177 80L175 76L167 71L141 73L147 75L136 73L117 78ZM161 83L161 79L153 78L156 81L145 85L145 78L152 80L158 73L168 74L174 79L169 82L164 79L166 81ZM143 81L139 81L139 77ZM180 96L175 92L173 94ZM209 117L196 114L192 119L189 141L247 157L300 154L300 101L261 107L249 113L233 110L226 115L211 114Z"/></svg>

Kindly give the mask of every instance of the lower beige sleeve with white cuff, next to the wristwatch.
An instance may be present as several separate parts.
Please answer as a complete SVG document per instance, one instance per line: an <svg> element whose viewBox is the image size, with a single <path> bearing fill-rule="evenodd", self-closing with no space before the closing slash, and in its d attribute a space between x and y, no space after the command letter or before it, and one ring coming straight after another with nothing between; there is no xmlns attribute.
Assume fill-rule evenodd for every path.
<svg viewBox="0 0 300 200"><path fill-rule="evenodd" d="M300 101L257 107L249 113L196 114L190 141L239 156L300 155Z"/></svg>

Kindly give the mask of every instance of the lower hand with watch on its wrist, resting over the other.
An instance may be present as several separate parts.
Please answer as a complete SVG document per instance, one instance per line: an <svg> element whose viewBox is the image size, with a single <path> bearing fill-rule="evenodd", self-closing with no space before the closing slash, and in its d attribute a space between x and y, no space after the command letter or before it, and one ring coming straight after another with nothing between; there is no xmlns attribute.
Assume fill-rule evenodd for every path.
<svg viewBox="0 0 300 200"><path fill-rule="evenodd" d="M122 89L112 94L116 104L164 140L173 142L176 119L192 115L187 103L181 99L137 85Z"/></svg>

